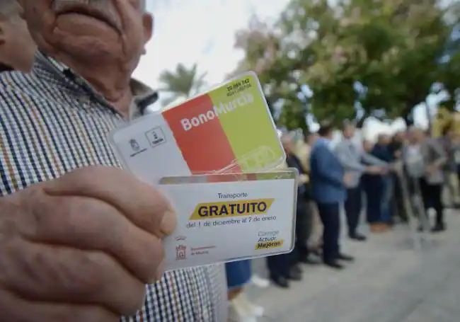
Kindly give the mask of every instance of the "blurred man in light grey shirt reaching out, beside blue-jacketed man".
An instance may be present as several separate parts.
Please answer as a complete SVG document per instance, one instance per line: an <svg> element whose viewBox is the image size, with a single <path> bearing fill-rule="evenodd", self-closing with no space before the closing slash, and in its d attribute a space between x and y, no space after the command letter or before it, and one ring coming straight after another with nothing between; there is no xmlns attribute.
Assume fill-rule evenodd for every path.
<svg viewBox="0 0 460 322"><path fill-rule="evenodd" d="M355 142L352 142L355 136L355 126L351 122L344 122L342 132L343 140L335 147L335 152L345 172L350 173L353 178L346 187L345 215L348 236L355 241L365 241L366 237L357 231L362 209L360 178L362 173L384 173L388 164L363 151ZM369 166L364 166L362 162Z"/></svg>

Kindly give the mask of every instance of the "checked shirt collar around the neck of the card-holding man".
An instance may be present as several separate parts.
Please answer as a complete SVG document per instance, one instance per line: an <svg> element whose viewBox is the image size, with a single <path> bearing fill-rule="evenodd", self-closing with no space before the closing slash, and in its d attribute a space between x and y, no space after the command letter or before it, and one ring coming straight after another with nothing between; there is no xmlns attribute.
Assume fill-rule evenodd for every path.
<svg viewBox="0 0 460 322"><path fill-rule="evenodd" d="M67 65L58 62L43 52L36 52L32 72L38 76L59 79L59 81L63 81L72 90L86 93L98 100L102 105L114 110L112 105L86 79L79 76L79 74L70 67L67 67ZM133 100L130 106L130 119L133 119L146 113L146 108L158 100L158 93L136 79L131 79L130 86L133 93Z"/></svg>

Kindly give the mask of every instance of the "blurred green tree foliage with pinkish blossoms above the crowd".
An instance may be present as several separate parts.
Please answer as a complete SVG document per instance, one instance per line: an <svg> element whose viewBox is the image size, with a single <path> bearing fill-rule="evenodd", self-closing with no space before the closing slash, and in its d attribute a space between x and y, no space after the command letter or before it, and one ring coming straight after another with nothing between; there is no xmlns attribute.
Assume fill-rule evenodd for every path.
<svg viewBox="0 0 460 322"><path fill-rule="evenodd" d="M306 127L309 113L332 122L354 118L356 105L367 115L406 117L435 87L447 91L452 109L460 11L444 2L291 0L275 25L253 18L237 33L245 58L236 71L258 73L272 110L281 108L277 122L288 128ZM304 86L312 96L302 94Z"/></svg>

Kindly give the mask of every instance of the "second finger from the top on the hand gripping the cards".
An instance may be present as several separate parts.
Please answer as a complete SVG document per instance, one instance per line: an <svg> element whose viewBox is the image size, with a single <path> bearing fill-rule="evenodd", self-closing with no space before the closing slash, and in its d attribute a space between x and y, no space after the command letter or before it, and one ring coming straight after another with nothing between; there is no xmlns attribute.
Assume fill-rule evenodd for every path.
<svg viewBox="0 0 460 322"><path fill-rule="evenodd" d="M109 253L144 283L161 276L157 272L164 258L161 240L118 215L113 206L88 197L35 199L36 208L31 209L35 222L19 228L26 238Z"/></svg>

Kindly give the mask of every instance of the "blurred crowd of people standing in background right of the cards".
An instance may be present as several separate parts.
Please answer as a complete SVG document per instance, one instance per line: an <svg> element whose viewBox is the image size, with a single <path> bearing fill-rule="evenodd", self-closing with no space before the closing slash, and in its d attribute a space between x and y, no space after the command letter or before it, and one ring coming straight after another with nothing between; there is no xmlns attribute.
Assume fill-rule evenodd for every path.
<svg viewBox="0 0 460 322"><path fill-rule="evenodd" d="M241 262L227 266L227 277L243 277L238 284L241 297L230 298L230 312L240 317L235 321L256 321L263 312L242 292L244 281L289 288L301 280L303 265L342 270L355 260L340 248L340 214L345 213L347 237L365 242L368 236L360 228L366 223L370 234L385 234L410 221L420 233L441 233L447 229L444 208L459 207L460 139L451 126L438 138L410 127L379 134L375 142L357 140L351 122L344 122L339 141L333 140L335 131L323 125L318 132L304 132L301 139L281 134L284 167L299 171L294 251L267 258L268 280L251 275L249 262L246 271ZM430 209L435 212L432 222Z"/></svg>

